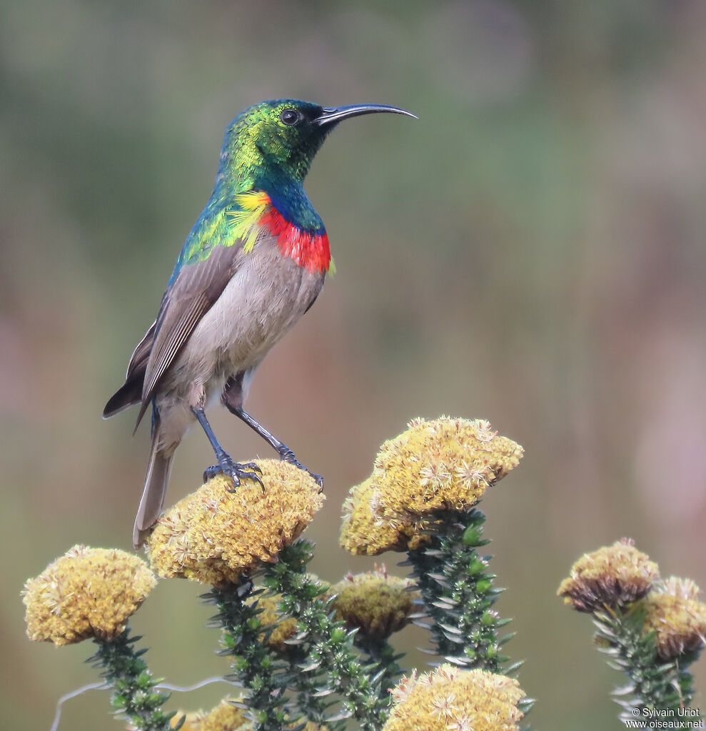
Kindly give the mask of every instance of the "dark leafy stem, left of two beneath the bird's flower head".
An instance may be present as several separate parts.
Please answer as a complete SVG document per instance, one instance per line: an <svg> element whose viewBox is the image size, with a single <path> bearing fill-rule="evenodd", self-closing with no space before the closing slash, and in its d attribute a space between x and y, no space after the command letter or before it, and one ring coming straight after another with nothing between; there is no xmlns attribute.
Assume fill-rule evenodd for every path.
<svg viewBox="0 0 706 731"><path fill-rule="evenodd" d="M246 689L243 699L248 705L256 731L281 731L292 721L285 705L285 668L278 662L261 635L267 631L259 619L262 613L257 603L246 602L252 596L252 583L243 579L239 584L213 588L204 598L216 602L219 613L213 624L223 629L223 654L232 655L234 681Z"/></svg>

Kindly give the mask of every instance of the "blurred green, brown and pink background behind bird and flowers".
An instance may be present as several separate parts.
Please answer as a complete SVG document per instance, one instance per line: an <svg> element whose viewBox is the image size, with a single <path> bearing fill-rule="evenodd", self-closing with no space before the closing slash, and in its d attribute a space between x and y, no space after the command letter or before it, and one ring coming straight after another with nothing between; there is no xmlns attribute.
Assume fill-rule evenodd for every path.
<svg viewBox="0 0 706 731"><path fill-rule="evenodd" d="M102 407L224 127L294 96L419 115L347 121L319 153L307 189L338 273L248 401L326 478L312 568L372 566L337 534L384 439L417 415L489 419L525 447L482 508L532 725L618 728L622 678L555 590L622 536L706 584L706 5L6 0L0 39L0 725L48 729L96 680L90 645L29 643L20 590L77 542L130 548L147 428ZM216 411L237 458L271 456ZM212 461L194 430L168 501ZM172 683L225 671L202 591L162 582L134 617ZM422 667L422 632L399 640ZM91 692L60 728L119 728L107 711Z"/></svg>

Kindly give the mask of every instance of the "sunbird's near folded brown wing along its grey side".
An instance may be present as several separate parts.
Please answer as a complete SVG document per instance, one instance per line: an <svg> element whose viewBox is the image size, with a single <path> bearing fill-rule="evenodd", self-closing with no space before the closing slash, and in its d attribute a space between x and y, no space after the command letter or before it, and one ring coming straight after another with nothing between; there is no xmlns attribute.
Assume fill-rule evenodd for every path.
<svg viewBox="0 0 706 731"><path fill-rule="evenodd" d="M232 246L214 246L208 259L183 265L164 292L145 371L138 424L152 401L159 380L186 344L194 327L221 296L243 256L240 241Z"/></svg>

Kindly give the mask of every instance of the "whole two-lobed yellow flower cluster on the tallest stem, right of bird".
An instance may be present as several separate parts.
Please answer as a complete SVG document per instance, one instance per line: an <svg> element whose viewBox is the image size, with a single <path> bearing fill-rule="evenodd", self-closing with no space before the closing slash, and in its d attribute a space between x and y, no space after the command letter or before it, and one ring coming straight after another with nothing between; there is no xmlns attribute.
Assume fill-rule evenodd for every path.
<svg viewBox="0 0 706 731"><path fill-rule="evenodd" d="M472 507L522 455L485 420L414 419L382 444L371 477L350 491L341 545L372 555L418 548L436 512Z"/></svg>

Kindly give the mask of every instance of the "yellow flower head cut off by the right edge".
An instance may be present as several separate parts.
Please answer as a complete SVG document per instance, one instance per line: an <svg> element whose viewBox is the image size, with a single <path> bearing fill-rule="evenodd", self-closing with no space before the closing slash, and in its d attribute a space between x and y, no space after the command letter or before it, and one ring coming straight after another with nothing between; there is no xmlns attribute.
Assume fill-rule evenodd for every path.
<svg viewBox="0 0 706 731"><path fill-rule="evenodd" d="M665 660L706 645L706 604L696 599L697 594L699 587L693 581L672 576L642 599L642 632L655 632L657 652Z"/></svg>

